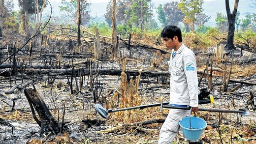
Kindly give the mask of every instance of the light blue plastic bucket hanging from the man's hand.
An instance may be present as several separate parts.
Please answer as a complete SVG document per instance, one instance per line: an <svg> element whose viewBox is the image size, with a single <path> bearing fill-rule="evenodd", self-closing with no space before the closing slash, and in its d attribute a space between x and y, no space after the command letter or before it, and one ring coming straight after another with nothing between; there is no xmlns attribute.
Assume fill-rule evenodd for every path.
<svg viewBox="0 0 256 144"><path fill-rule="evenodd" d="M192 129L190 128L190 122ZM184 137L191 141L199 140L203 134L203 130L207 126L205 120L195 116L185 117L182 119L182 121L179 122L179 124L183 131Z"/></svg>

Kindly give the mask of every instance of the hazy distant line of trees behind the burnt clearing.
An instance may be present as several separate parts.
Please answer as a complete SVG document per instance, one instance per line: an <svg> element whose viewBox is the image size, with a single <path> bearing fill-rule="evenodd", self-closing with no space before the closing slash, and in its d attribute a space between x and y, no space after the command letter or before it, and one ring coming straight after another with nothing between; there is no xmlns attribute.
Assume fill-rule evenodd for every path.
<svg viewBox="0 0 256 144"><path fill-rule="evenodd" d="M65 27L70 25L72 29L78 31L78 44L80 45L80 25L87 27L102 27L105 31L112 26L112 0L109 0L104 14L105 23L97 23L90 15L91 4L89 0L62 0L60 10L63 15L57 25ZM166 25L175 25L182 28L183 31L206 32L211 27L205 26L210 16L203 13L203 0L179 0L155 5L152 0L116 0L116 29L117 33L126 35L132 31L144 32L150 29L161 29ZM234 0L234 8L230 11L229 0L225 0L226 13L217 12L215 22L217 29L221 32L227 32L227 39L231 39L229 44L233 43L236 31L251 30L256 32L256 13L247 13L245 18L240 17L237 10L239 0ZM255 0L252 0L254 7ZM8 35L7 33L18 32L27 38L31 33L39 29L42 24L42 12L48 5L46 0L18 0L19 11L13 11L13 0L0 0L0 38ZM254 7L256 8L256 7ZM154 19L153 10L157 9L157 19L160 22L158 26ZM69 20L69 21L67 21ZM51 21L50 23L53 23ZM51 24L50 24L51 25ZM76 25L76 26L75 26ZM109 31L108 31L109 32ZM233 45L228 46L229 49Z"/></svg>

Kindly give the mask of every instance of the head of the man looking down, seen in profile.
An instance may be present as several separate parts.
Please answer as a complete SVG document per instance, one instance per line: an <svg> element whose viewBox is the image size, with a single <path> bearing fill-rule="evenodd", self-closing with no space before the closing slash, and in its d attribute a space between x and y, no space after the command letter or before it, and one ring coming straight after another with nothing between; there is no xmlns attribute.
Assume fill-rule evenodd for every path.
<svg viewBox="0 0 256 144"><path fill-rule="evenodd" d="M162 29L161 37L168 49L179 48L182 42L181 29L176 26L166 26Z"/></svg>

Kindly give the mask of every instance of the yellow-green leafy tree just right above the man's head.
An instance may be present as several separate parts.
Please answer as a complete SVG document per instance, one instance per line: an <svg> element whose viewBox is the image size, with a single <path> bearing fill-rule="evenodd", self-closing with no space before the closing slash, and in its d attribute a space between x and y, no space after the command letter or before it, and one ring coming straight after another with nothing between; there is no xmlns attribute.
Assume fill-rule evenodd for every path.
<svg viewBox="0 0 256 144"><path fill-rule="evenodd" d="M192 30L195 28L196 15L202 13L203 0L181 0L178 4L178 8L185 15L184 23L191 27Z"/></svg>

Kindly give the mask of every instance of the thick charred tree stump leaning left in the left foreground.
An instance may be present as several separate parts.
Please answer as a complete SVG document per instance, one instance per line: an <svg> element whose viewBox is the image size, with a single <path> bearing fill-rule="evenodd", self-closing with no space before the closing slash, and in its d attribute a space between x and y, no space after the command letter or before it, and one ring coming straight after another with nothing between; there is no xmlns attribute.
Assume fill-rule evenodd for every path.
<svg viewBox="0 0 256 144"><path fill-rule="evenodd" d="M36 91L35 87L32 88L26 88L24 89L24 93L26 95L26 98L29 101L32 115L37 124L41 127L39 133L49 133L54 132L55 134L60 132L60 127L58 124L58 121L55 120L55 118L50 113L48 107L44 103L43 99L39 95L39 93ZM34 109L36 110L37 114L39 115L40 121L37 119L36 115L34 114Z"/></svg>

